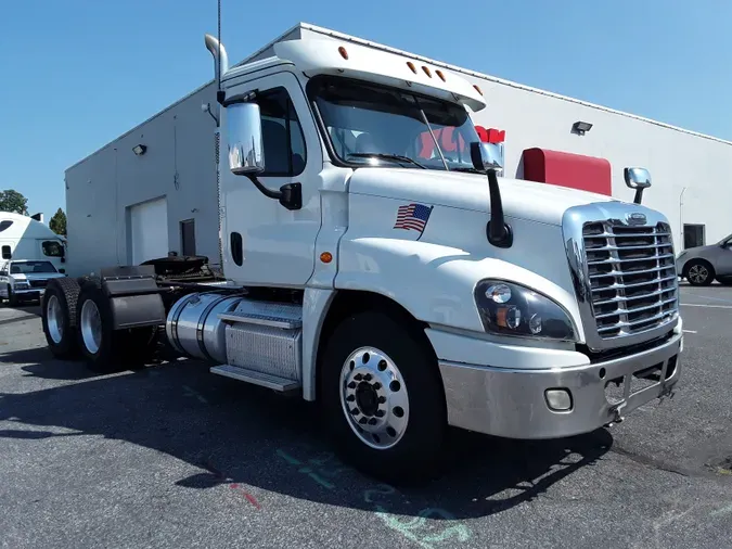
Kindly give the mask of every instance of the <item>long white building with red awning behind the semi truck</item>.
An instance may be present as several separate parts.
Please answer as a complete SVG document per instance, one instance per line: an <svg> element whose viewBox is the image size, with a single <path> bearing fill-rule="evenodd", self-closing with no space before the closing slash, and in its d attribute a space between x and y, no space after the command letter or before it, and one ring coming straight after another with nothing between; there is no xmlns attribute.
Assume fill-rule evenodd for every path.
<svg viewBox="0 0 732 549"><path fill-rule="evenodd" d="M643 203L669 218L677 251L684 241L689 247L732 232L732 142L308 24L242 63L270 56L272 43L293 38L355 41L460 73L488 100L474 122L491 140L503 140L508 177L632 201L622 169L641 166L654 182ZM210 65L201 71L208 73ZM215 122L202 111L202 104L215 104L215 95L211 80L66 170L69 274L169 252L206 255L218 264Z"/></svg>

